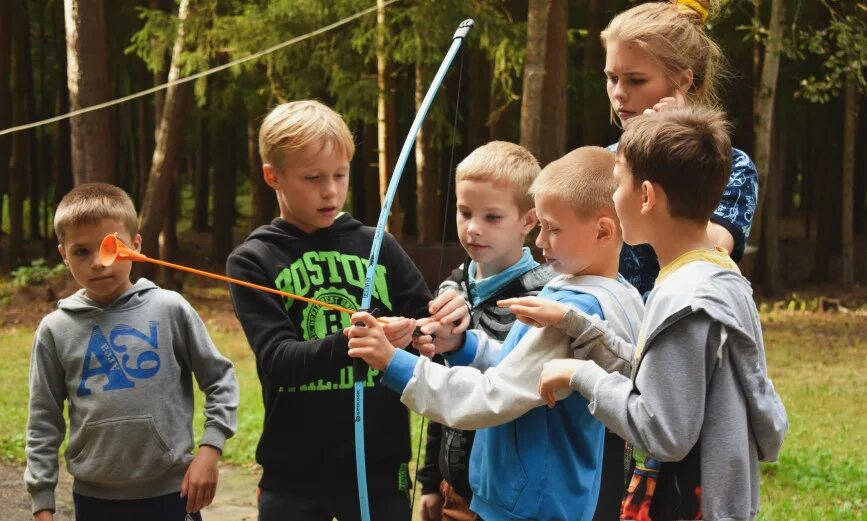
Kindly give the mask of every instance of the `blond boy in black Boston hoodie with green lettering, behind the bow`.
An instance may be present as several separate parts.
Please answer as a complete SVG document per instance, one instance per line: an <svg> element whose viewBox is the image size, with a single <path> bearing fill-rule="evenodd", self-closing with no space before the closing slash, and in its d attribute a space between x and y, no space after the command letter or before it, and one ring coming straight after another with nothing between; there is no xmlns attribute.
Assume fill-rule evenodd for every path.
<svg viewBox="0 0 867 521"><path fill-rule="evenodd" d="M316 101L277 106L259 131L265 182L280 217L229 256L232 277L358 309L374 229L341 211L349 185L352 134ZM352 362L343 328L349 315L231 286L235 314L256 354L265 405L256 449L262 466L259 520L357 519ZM418 269L385 236L371 306L384 315L426 311L430 292ZM386 326L407 345L413 321ZM409 418L400 397L369 370L365 440L371 516L408 520Z"/></svg>

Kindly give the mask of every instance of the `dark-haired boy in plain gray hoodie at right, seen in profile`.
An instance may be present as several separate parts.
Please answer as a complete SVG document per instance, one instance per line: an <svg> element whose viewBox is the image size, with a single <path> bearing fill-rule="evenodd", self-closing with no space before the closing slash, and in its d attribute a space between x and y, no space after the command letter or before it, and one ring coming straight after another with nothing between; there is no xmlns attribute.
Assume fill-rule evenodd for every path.
<svg viewBox="0 0 867 521"><path fill-rule="evenodd" d="M571 387L632 445L621 519L754 519L759 461L775 460L785 436L749 282L706 233L731 157L720 112L630 120L617 151L614 204L624 241L649 243L662 266L638 342L618 347L634 351L631 377L571 359L549 362L540 378L549 406L556 391ZM573 337L610 328L578 309L537 304L520 318L557 324Z"/></svg>

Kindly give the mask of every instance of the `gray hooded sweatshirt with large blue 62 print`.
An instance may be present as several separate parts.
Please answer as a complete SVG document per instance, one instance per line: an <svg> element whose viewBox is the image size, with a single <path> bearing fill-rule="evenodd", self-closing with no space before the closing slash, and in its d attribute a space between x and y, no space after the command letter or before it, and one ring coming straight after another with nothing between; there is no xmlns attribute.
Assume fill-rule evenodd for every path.
<svg viewBox="0 0 867 521"><path fill-rule="evenodd" d="M64 402L75 492L178 492L193 459L193 374L205 394L199 443L222 450L237 425L238 383L183 297L139 279L108 306L84 290L61 300L39 324L30 361L24 481L33 512L54 510Z"/></svg>

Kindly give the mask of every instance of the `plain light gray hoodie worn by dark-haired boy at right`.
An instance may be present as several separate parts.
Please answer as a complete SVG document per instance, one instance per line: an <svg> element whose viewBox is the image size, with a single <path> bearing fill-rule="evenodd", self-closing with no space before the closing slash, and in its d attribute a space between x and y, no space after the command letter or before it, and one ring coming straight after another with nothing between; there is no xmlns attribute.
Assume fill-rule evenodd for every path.
<svg viewBox="0 0 867 521"><path fill-rule="evenodd" d="M607 329L589 315L572 327ZM788 420L768 378L749 282L710 262L673 272L648 298L633 364L631 379L584 364L572 388L663 469L698 450L704 519L754 519L759 461L777 459Z"/></svg>

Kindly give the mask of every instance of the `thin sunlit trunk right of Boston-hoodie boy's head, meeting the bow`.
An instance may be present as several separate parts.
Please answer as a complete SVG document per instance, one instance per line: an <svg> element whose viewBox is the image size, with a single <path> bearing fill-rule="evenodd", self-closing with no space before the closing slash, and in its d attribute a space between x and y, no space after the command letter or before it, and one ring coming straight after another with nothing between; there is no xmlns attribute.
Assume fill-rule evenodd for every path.
<svg viewBox="0 0 867 521"><path fill-rule="evenodd" d="M397 101L394 88L394 66L388 59L385 49L388 27L385 20L385 2L377 0L376 5L376 84L379 88L377 97L376 114L379 143L379 204L385 202L385 194L388 183L397 162ZM394 194L391 206L391 214L388 217L387 229L401 240L401 211L400 198Z"/></svg>

